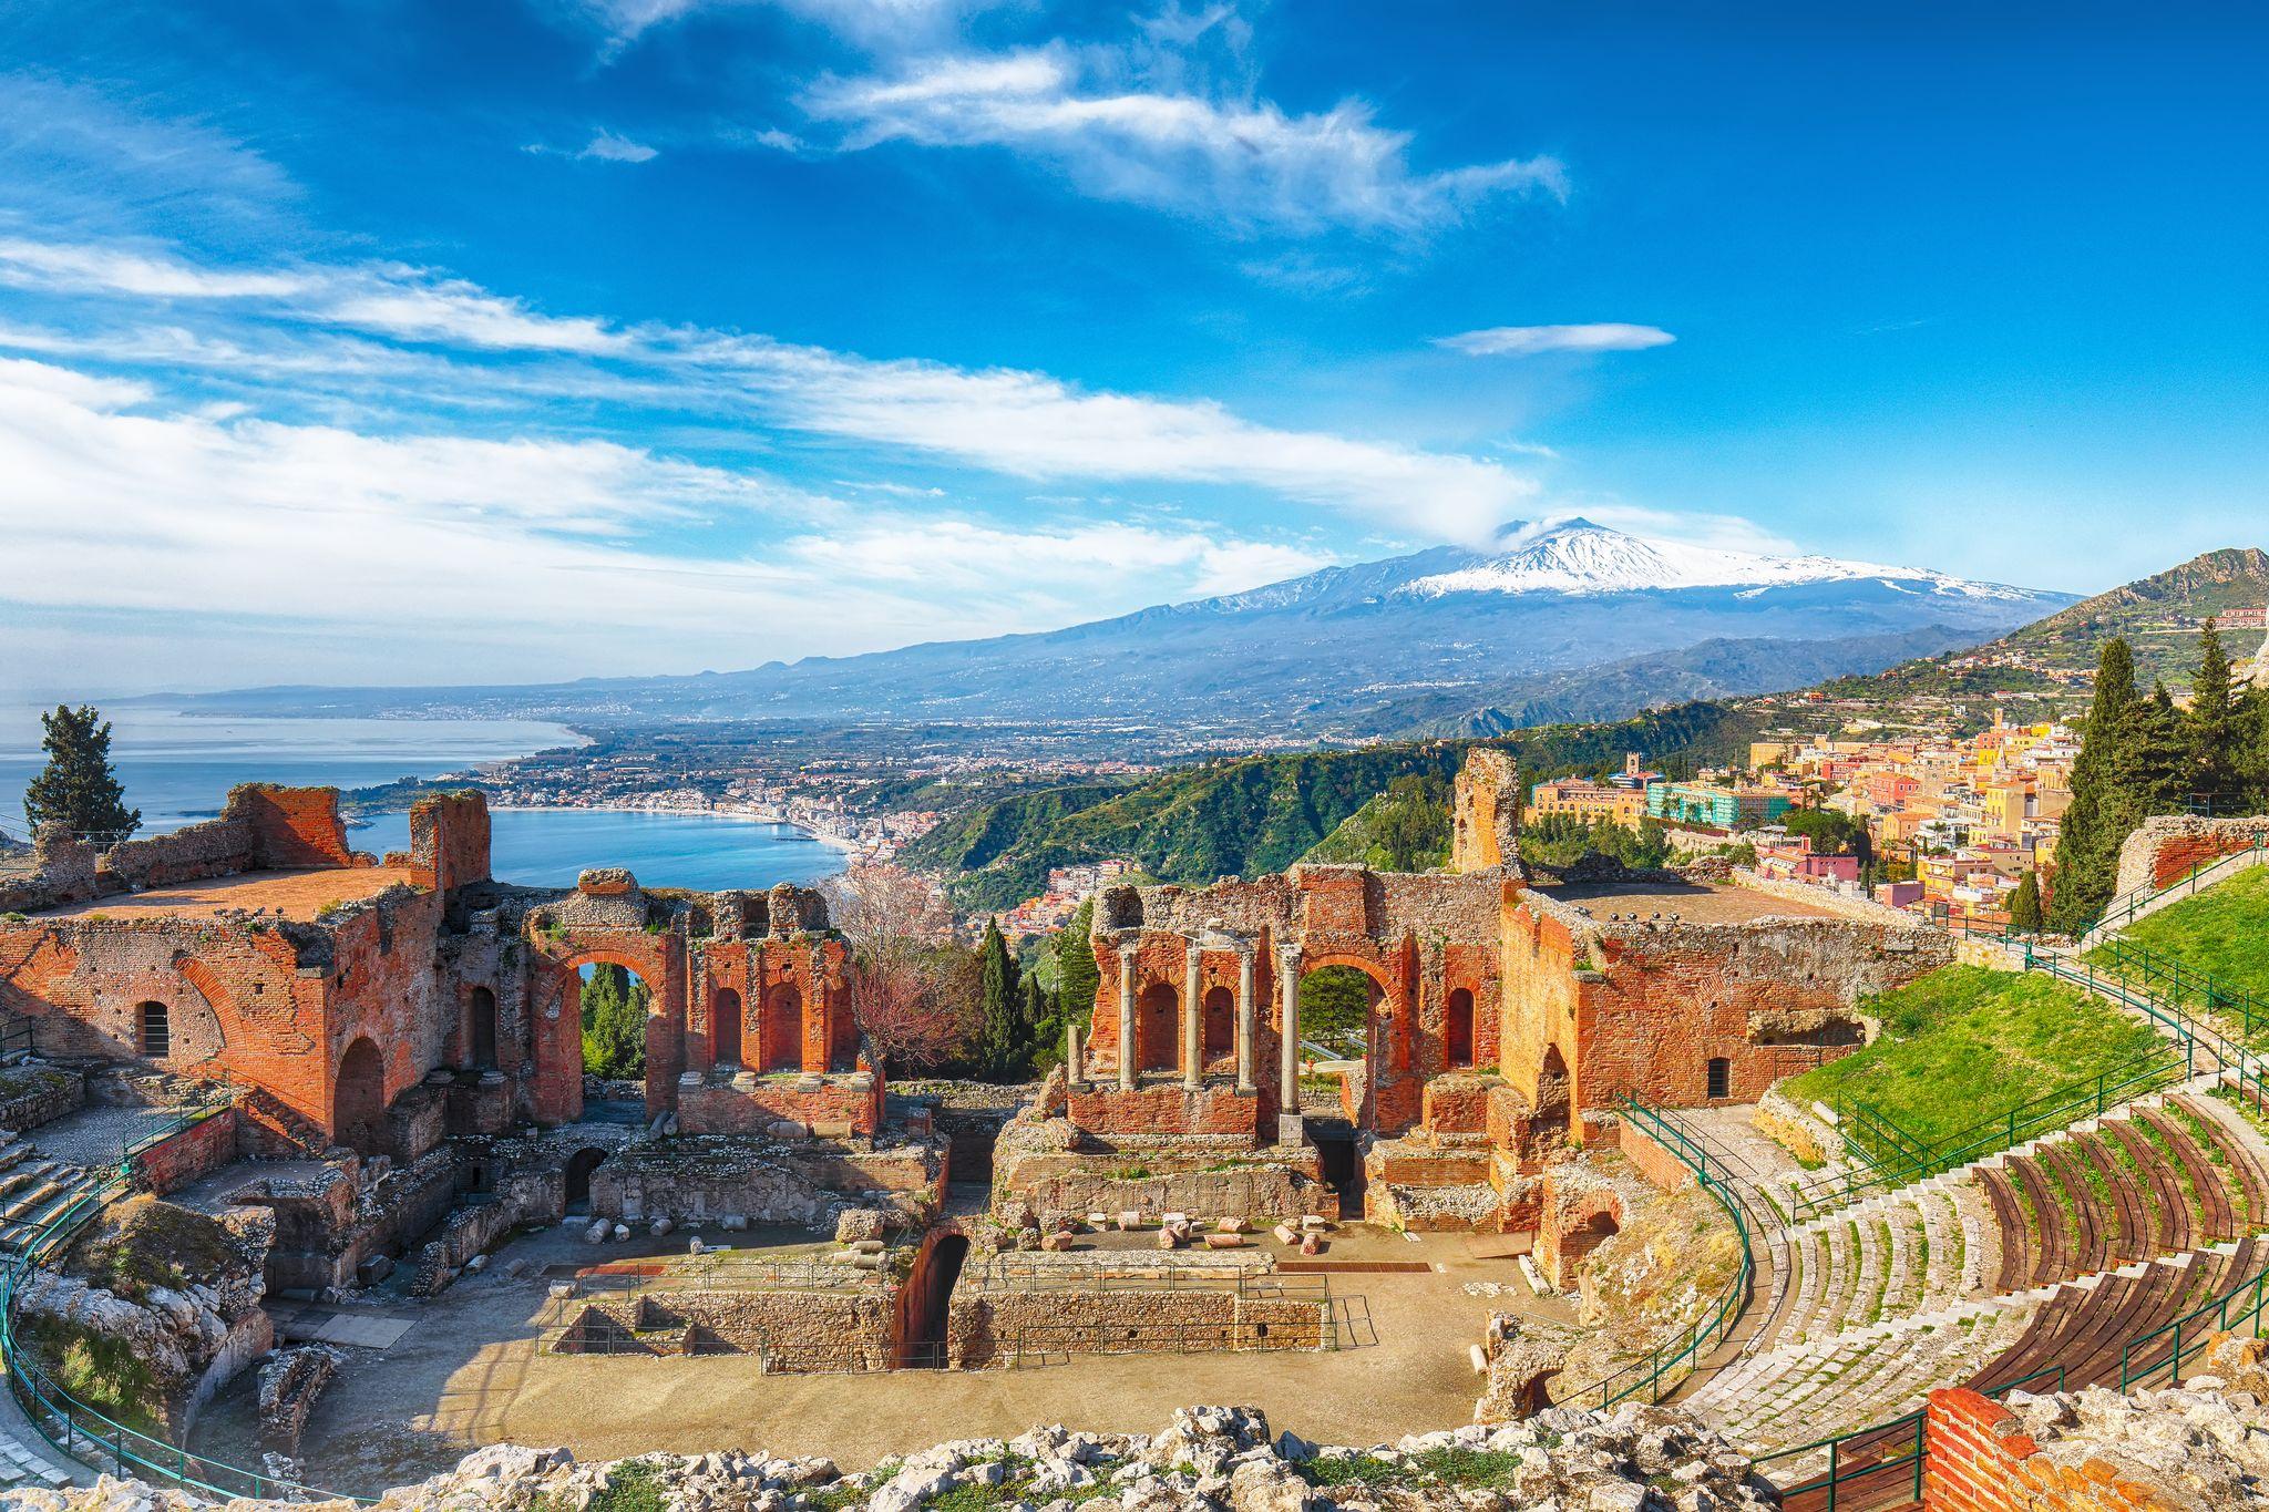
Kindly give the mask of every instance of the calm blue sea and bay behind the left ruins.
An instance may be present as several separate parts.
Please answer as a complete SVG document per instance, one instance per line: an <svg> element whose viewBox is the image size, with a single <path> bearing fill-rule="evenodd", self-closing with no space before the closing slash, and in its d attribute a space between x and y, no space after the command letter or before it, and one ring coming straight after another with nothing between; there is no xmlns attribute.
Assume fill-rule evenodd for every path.
<svg viewBox="0 0 2269 1512"><path fill-rule="evenodd" d="M0 830L25 836L23 789L39 773L39 707L0 705ZM395 778L470 775L486 762L579 746L565 725L531 719L256 719L157 707L107 710L111 764L141 834L220 814L238 782L374 787ZM651 886L715 891L817 882L844 852L794 825L728 814L635 809L497 809L492 864L501 882L572 886L585 866L626 866ZM349 832L356 850L408 848L408 814L377 814Z"/></svg>

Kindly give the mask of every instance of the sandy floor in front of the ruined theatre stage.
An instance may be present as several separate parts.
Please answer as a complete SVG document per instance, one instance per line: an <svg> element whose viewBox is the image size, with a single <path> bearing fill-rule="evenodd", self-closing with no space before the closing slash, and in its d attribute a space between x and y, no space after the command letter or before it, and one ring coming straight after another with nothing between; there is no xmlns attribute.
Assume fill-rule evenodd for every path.
<svg viewBox="0 0 2269 1512"><path fill-rule="evenodd" d="M1572 1317L1566 1301L1529 1297L1513 1260L1475 1254L1468 1235L1407 1242L1346 1229L1330 1260L1425 1260L1432 1269L1334 1274L1334 1297L1359 1299L1352 1310L1370 1319L1366 1342L1343 1351L1116 1356L864 1376L760 1376L747 1356L538 1356L547 1308L540 1269L622 1254L585 1245L574 1226L551 1229L499 1251L486 1276L415 1306L417 1326L393 1349L352 1351L315 1410L306 1478L374 1492L506 1439L565 1444L601 1460L726 1446L824 1453L858 1469L942 1439L1007 1437L1035 1424L1155 1433L1189 1403L1257 1403L1273 1426L1309 1439L1373 1444L1470 1419L1479 1381L1468 1344L1479 1342L1488 1313ZM522 1279L501 1274L515 1258L531 1260ZM1468 1285L1502 1290L1473 1294ZM386 1313L399 1317L404 1308ZM250 1387L252 1371L213 1403L197 1451L256 1458Z"/></svg>

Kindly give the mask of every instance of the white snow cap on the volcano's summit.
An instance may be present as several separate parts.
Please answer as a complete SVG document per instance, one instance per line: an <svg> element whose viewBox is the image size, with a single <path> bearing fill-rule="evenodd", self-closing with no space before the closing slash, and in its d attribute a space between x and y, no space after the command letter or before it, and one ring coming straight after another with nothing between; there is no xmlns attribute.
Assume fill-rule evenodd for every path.
<svg viewBox="0 0 2269 1512"><path fill-rule="evenodd" d="M1758 555L1688 542L1645 540L1570 519L1536 533L1518 551L1482 555L1450 571L1405 583L1398 592L1420 598L1443 594L1643 594L1681 587L1786 587L1793 583L1852 583L1917 594L2031 601L2033 594L1999 583L1972 583L1917 567L1845 562L1824 555Z"/></svg>

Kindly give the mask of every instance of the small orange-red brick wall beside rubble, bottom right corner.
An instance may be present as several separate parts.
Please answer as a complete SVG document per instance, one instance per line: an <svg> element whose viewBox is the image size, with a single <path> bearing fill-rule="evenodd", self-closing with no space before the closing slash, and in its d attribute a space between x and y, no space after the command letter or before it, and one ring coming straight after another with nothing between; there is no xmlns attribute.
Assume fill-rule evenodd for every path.
<svg viewBox="0 0 2269 1512"><path fill-rule="evenodd" d="M1929 1512L2178 1512L2196 1505L2165 1487L2126 1480L2103 1460L2072 1467L2040 1458L2008 1408L1967 1387L1931 1392L1924 1433L1922 1505Z"/></svg>

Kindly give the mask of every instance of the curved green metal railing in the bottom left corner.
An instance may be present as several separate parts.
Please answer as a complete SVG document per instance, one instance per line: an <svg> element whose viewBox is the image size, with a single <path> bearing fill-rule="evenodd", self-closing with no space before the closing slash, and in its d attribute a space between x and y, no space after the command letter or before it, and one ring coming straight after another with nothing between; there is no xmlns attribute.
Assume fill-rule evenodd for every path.
<svg viewBox="0 0 2269 1512"><path fill-rule="evenodd" d="M147 1145L143 1145L147 1149ZM64 1390L39 1362L36 1351L18 1337L16 1301L32 1272L59 1256L79 1229L104 1206L132 1190L125 1172L111 1177L102 1188L79 1197L57 1213L34 1233L23 1249L0 1263L0 1365L7 1369L9 1392L23 1408L32 1430L68 1462L84 1462L86 1455L107 1455L118 1473L138 1476L159 1485L177 1485L200 1496L275 1496L288 1501L354 1501L372 1505L370 1496L347 1496L324 1492L265 1471L243 1469L225 1460L193 1455L182 1444L170 1444L141 1428L129 1428L116 1417L91 1408Z"/></svg>

